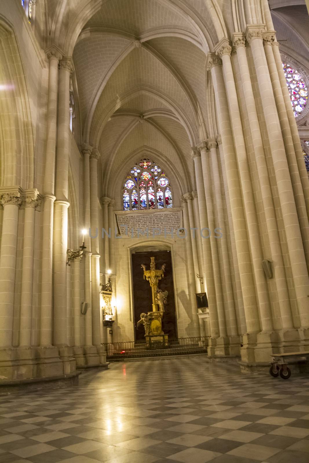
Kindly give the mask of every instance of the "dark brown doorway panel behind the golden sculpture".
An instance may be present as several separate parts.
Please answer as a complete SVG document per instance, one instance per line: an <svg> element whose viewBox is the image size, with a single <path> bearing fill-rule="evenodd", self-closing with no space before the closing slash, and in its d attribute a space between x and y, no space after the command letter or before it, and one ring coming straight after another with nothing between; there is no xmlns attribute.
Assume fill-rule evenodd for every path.
<svg viewBox="0 0 309 463"><path fill-rule="evenodd" d="M173 282L173 269L170 251L150 251L150 252L137 252L132 254L132 274L133 274L133 302L134 302L134 325L135 325L135 339L137 342L145 341L145 331L143 325L136 329L136 324L140 319L141 313L148 313L152 311L151 287L147 280L144 280L143 269L141 264L145 264L146 269L150 269L150 258L155 258L156 269L161 269L165 263L164 278L159 280L158 289L168 291L167 304L164 306L163 316L163 331L164 334L169 335L169 340L177 339L177 325L175 313L175 295L174 295L174 282Z"/></svg>

